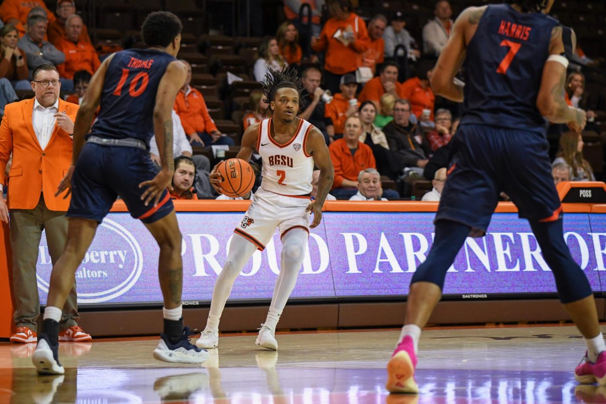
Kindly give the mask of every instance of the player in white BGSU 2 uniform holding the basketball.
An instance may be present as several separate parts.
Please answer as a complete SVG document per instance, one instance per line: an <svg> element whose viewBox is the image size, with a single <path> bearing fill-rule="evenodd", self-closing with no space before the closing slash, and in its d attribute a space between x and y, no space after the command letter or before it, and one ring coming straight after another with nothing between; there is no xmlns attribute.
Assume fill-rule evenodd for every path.
<svg viewBox="0 0 606 404"><path fill-rule="evenodd" d="M219 318L231 286L255 250L264 250L277 227L282 240L281 271L256 344L278 349L276 325L301 271L309 229L322 220L322 205L335 174L324 135L297 116L301 88L294 69L270 69L263 91L273 118L251 125L242 136L237 157L248 161L255 150L261 154L261 187L231 239L227 262L215 283L206 328L196 342L199 347L215 348L218 345ZM320 169L320 177L318 195L311 202L314 165ZM210 182L220 193L221 175L213 170ZM313 222L310 225L311 213Z"/></svg>

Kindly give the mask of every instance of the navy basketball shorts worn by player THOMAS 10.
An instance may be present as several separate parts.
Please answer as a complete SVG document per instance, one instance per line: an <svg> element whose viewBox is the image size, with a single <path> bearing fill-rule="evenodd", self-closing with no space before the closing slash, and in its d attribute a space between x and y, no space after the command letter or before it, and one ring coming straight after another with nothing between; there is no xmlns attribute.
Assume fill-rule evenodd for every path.
<svg viewBox="0 0 606 404"><path fill-rule="evenodd" d="M141 182L153 179L156 170L148 151L135 147L87 143L82 148L72 176L72 201L67 217L101 222L120 196L130 215L153 223L173 211L173 201L164 190L158 206L145 206Z"/></svg>

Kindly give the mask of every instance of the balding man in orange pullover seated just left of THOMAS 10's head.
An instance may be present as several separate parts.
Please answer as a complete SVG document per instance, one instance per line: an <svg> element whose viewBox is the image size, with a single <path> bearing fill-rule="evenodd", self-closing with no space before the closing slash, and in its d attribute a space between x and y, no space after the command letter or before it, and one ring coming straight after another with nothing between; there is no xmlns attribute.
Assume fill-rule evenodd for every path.
<svg viewBox="0 0 606 404"><path fill-rule="evenodd" d="M59 75L64 79L73 79L78 70L86 70L94 75L101 66L99 56L90 42L80 39L82 34L82 17L71 15L65 22L65 38L57 43L57 49L65 54L65 62L59 65Z"/></svg>

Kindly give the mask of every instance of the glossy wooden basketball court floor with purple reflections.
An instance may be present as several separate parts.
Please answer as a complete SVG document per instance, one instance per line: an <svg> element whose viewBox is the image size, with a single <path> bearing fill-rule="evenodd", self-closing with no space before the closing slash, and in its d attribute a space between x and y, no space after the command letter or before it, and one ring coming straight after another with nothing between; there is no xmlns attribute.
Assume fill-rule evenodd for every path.
<svg viewBox="0 0 606 404"><path fill-rule="evenodd" d="M399 330L256 334L219 339L202 365L158 362L157 339L63 343L64 376L36 376L35 344L0 343L2 403L594 403L606 388L581 386L585 352L576 328L430 328L422 334L418 396L388 395L385 364Z"/></svg>

